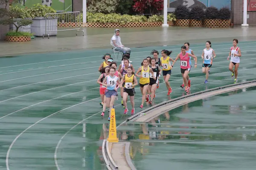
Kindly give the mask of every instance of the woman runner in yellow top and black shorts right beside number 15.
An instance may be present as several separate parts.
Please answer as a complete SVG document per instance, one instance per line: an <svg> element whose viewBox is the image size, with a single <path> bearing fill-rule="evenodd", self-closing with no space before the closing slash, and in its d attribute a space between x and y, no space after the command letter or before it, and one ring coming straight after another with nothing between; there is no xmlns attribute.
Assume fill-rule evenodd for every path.
<svg viewBox="0 0 256 170"><path fill-rule="evenodd" d="M137 78L134 75L134 72L132 71L132 67L131 66L129 66L127 68L127 74L125 74L124 78L121 81L121 84L123 84L123 83L125 85L124 85L124 87L121 86L121 91L122 91L122 88L123 88L124 89L123 90L123 103L124 103L124 106L125 106L124 114L128 113L127 97L130 96L131 115L133 115L134 111L135 111L135 109L134 109L134 95L135 95L134 87L136 85L138 85L138 82L137 82Z"/></svg>

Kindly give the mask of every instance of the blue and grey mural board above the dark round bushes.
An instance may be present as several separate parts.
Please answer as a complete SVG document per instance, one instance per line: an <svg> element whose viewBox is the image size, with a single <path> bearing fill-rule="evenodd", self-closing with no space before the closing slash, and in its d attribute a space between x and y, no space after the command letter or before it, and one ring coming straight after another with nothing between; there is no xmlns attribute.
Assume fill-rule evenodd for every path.
<svg viewBox="0 0 256 170"><path fill-rule="evenodd" d="M230 8L231 0L169 0L168 11L174 11L175 8L177 8L177 6L179 5L184 5L188 8L193 8L194 6L201 6L204 9L209 6L215 6L216 8Z"/></svg>

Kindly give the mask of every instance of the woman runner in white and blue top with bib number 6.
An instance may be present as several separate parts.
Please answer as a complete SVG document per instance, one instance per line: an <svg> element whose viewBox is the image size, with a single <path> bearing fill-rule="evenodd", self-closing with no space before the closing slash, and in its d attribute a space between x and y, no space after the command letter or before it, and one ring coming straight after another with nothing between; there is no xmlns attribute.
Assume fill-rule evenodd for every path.
<svg viewBox="0 0 256 170"><path fill-rule="evenodd" d="M204 83L208 83L209 70L212 67L212 61L216 57L215 51L211 48L212 43L207 41L205 43L206 48L204 48L202 59L204 59L202 71L205 73L205 81Z"/></svg>

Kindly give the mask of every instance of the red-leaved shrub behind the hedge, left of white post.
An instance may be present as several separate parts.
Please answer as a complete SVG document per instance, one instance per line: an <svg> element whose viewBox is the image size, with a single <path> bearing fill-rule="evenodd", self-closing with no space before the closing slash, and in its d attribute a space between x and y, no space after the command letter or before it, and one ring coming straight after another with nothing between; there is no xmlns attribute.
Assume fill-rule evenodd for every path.
<svg viewBox="0 0 256 170"><path fill-rule="evenodd" d="M138 11L140 14L148 11L153 15L163 9L163 0L134 0L134 2L134 11Z"/></svg>

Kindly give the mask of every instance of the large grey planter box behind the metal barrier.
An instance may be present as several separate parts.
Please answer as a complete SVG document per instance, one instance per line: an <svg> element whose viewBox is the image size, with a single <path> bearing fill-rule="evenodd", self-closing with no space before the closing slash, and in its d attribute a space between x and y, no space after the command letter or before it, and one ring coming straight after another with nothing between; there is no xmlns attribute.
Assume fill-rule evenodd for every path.
<svg viewBox="0 0 256 170"><path fill-rule="evenodd" d="M41 37L45 34L45 17L35 17L32 19L33 23L31 24L31 33L34 33L35 36ZM57 35L57 19L47 19L47 34Z"/></svg>

